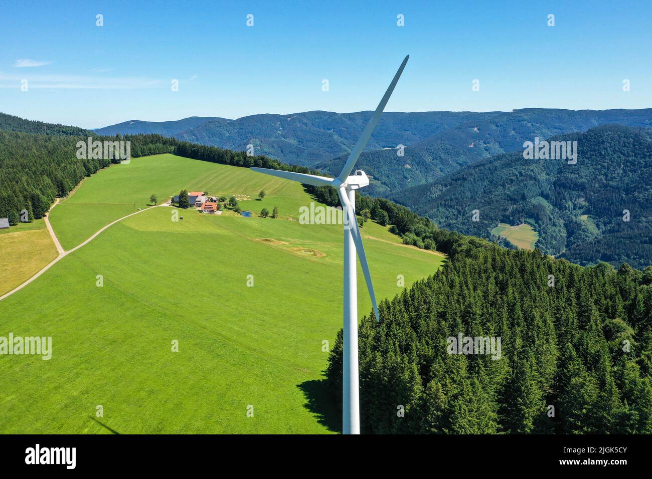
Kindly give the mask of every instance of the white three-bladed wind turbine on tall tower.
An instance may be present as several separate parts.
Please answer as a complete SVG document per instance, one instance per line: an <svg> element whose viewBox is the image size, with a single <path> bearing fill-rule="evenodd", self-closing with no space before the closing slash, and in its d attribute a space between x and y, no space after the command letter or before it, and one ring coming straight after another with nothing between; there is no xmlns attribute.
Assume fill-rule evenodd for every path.
<svg viewBox="0 0 652 479"><path fill-rule="evenodd" d="M396 87L403 69L408 63L409 55L405 57L401 66L398 67L392 83L389 84L387 91L378 104L376 111L371 115L371 119L364 128L363 134L355 143L355 147L346 160L342 173L337 178L326 178L317 175L306 175L304 173L293 173L292 171L281 171L279 169L251 167L252 170L274 177L284 178L287 180L297 181L314 186L332 186L336 188L340 196L342 210L346 212L344 218L344 345L342 354L342 432L344 434L360 433L360 403L358 387L358 298L357 298L357 270L355 268L355 254L360 259L360 265L364 273L367 289L374 306L376 321L379 321L378 306L376 305L376 295L374 295L374 285L371 282L369 265L364 254L363 238L360 234L357 218L355 217L355 190L368 186L369 179L362 170L357 170L353 175L351 171L355 162L363 151L369 137L371 136L376 124L383 114L383 109Z"/></svg>

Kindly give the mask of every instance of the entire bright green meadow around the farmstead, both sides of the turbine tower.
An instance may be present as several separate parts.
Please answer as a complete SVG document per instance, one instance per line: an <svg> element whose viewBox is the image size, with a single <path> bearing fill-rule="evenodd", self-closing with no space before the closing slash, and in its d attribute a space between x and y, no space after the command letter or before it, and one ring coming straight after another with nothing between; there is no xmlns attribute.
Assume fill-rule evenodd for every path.
<svg viewBox="0 0 652 479"><path fill-rule="evenodd" d="M342 323L342 226L300 224L312 201L300 184L169 154L134 158L86 179L50 218L69 250L151 194L162 202L182 188L251 197L240 204L254 217L179 210L175 222L170 207L143 211L0 301L0 336L53 344L50 360L0 355L0 433L339 431L322 371L324 341ZM258 218L275 205L280 218ZM398 275L408 287L443 261L378 224L362 231L379 300L400 293ZM358 298L368 314L360 269Z"/></svg>

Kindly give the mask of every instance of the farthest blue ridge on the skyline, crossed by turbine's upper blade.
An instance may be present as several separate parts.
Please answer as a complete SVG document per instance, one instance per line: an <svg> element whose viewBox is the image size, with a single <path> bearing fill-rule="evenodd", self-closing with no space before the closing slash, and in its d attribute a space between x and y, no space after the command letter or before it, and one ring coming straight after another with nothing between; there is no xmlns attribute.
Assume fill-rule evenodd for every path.
<svg viewBox="0 0 652 479"><path fill-rule="evenodd" d="M334 113L331 111L304 111L288 115L261 114L237 120L198 118L177 122L128 121L95 130L97 134L157 133L174 138L213 145L237 151L254 145L256 154L278 158L286 163L312 166L349 152L369 121L371 111ZM394 147L426 139L432 134L451 128L466 119L484 113L425 111L383 114L367 149ZM200 121L201 120L201 121Z"/></svg>

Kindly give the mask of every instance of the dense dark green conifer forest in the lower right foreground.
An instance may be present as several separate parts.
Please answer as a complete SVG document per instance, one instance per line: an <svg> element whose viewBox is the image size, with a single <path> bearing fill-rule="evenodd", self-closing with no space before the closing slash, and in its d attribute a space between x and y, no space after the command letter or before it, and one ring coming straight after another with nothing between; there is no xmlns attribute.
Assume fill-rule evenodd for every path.
<svg viewBox="0 0 652 479"><path fill-rule="evenodd" d="M360 325L363 433L652 433L652 268L447 244ZM500 337L499 359L449 354L459 333ZM327 383L341 405L342 330Z"/></svg>

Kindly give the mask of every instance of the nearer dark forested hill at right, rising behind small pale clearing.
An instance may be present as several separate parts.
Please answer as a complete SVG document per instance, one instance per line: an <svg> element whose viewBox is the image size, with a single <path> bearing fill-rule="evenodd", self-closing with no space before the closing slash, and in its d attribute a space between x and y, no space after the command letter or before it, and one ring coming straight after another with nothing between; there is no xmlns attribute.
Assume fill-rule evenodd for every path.
<svg viewBox="0 0 652 479"><path fill-rule="evenodd" d="M525 221L539 232L537 248L582 265L652 265L652 130L605 125L552 139L577 141L577 163L498 154L391 199L479 237Z"/></svg>

